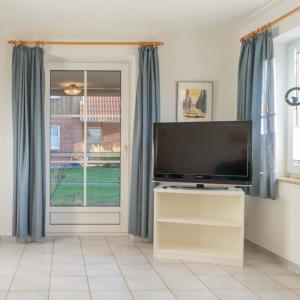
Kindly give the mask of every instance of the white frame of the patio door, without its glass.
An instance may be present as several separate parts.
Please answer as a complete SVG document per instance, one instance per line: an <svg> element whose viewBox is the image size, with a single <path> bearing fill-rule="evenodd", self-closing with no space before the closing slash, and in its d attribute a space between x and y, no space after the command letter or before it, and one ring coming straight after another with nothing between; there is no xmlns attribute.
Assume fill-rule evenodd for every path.
<svg viewBox="0 0 300 300"><path fill-rule="evenodd" d="M120 162L120 206L118 207L60 207L50 206L50 72L52 70L82 71L120 71L121 72L121 162ZM129 201L129 160L130 160L130 77L128 63L46 63L45 64L45 144L46 144L46 235L63 234L127 234L128 232L128 201ZM93 214L98 224L60 224L53 223L55 216L61 217ZM107 219L114 215L112 223L101 222L101 214ZM84 217L86 217L85 215Z"/></svg>

